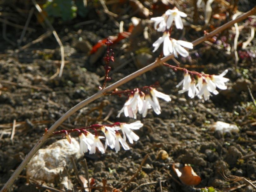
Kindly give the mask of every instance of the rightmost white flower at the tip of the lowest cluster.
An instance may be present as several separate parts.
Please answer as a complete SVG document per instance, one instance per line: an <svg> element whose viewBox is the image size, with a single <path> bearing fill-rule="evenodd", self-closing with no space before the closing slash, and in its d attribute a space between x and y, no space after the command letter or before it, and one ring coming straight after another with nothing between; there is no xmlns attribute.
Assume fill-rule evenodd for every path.
<svg viewBox="0 0 256 192"><path fill-rule="evenodd" d="M123 132L123 139L126 140L126 137L128 138L130 144L133 144L133 141L138 141L139 140L139 136L137 136L133 131L136 129L139 129L140 127L143 126L143 123L141 123L140 121L136 121L134 123L120 123L120 129Z"/></svg>

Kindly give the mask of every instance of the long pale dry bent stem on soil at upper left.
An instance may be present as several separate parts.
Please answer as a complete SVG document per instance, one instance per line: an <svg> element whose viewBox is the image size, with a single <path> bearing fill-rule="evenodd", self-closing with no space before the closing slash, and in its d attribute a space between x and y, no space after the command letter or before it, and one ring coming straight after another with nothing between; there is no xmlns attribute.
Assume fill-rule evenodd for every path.
<svg viewBox="0 0 256 192"><path fill-rule="evenodd" d="M57 40L59 46L60 46L60 51L61 51L61 67L60 67L60 73L59 73L59 77L62 76L62 72L63 72L63 68L65 65L65 53L64 53L64 47L63 44L57 34L57 32L55 31L55 29L53 28L51 22L47 19L47 17L43 14L43 11L41 9L41 7L37 4L36 0L32 0L33 4L35 5L36 9L38 10L38 12L40 13L40 15L44 18L45 23L49 26L50 30L52 31L55 39Z"/></svg>

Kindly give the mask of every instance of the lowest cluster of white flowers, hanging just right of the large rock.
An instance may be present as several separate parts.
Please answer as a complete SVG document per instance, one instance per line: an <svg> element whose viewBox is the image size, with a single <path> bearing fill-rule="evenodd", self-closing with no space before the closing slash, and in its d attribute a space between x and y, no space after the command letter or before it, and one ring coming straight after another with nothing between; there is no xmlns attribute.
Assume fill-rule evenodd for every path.
<svg viewBox="0 0 256 192"><path fill-rule="evenodd" d="M111 127L110 127L111 126ZM115 149L116 152L120 151L120 144L125 150L130 149L129 145L126 143L126 137L130 144L133 144L133 141L138 141L139 136L137 136L132 130L137 130L143 126L143 123L136 121L134 123L114 123L113 125L100 126L101 131L104 133L104 136L98 136L97 132L95 135L86 131L84 129L79 130L79 145L80 153L86 153L89 151L89 154L96 152L96 148L103 154L105 153L106 148L109 146L111 149ZM122 131L122 135L119 130ZM105 146L101 143L100 139L105 138Z"/></svg>

